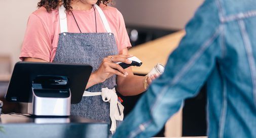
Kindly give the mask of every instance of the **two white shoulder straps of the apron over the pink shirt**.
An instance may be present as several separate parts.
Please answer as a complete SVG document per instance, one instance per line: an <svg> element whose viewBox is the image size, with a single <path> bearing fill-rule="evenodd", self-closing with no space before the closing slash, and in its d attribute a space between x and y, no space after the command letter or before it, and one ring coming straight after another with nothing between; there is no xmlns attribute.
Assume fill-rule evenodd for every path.
<svg viewBox="0 0 256 138"><path fill-rule="evenodd" d="M106 32L112 33L111 28L106 20L105 14L97 4L95 4L94 6L100 15L101 21L106 29ZM65 10L66 8L63 5L59 7L60 33L67 32L67 15L65 13Z"/></svg>

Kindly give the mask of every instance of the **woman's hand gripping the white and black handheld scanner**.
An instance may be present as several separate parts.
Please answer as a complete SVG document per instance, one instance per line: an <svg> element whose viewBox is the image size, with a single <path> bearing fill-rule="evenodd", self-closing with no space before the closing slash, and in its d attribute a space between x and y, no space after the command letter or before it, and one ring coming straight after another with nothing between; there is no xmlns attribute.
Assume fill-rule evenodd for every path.
<svg viewBox="0 0 256 138"><path fill-rule="evenodd" d="M114 74L126 77L128 73L116 63L123 62L126 64L131 64L132 61L127 59L130 57L132 57L132 55L113 55L104 58L99 68L93 72L93 74L96 76L96 81L104 82L107 78L113 76Z"/></svg>

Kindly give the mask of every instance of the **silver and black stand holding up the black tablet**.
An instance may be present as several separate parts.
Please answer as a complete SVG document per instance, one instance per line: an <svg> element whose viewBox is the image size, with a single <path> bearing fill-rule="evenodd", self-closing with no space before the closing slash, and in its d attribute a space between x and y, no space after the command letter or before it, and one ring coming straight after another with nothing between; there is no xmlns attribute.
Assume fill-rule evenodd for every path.
<svg viewBox="0 0 256 138"><path fill-rule="evenodd" d="M28 113L41 116L69 116L71 91L66 76L38 75L32 81L32 102Z"/></svg>

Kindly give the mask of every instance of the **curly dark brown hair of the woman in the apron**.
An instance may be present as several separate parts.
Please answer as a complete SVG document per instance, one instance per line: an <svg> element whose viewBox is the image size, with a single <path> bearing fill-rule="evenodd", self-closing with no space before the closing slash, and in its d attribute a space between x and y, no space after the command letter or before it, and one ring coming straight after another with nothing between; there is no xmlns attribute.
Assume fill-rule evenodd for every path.
<svg viewBox="0 0 256 138"><path fill-rule="evenodd" d="M56 10L59 6L64 5L66 11L69 12L71 7L72 0L41 0L38 3L38 7L45 7L47 12L52 12L52 10ZM112 3L112 0L98 0L97 5L104 4L107 5L108 3Z"/></svg>

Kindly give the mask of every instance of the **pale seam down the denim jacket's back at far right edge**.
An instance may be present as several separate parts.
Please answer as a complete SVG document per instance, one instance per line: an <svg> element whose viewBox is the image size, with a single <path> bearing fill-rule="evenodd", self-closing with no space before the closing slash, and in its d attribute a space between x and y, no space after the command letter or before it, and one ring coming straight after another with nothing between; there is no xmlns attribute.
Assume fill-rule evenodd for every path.
<svg viewBox="0 0 256 138"><path fill-rule="evenodd" d="M253 57L253 54L250 53L252 52L252 47L251 47L251 42L249 40L249 36L248 33L246 31L245 28L245 24L243 20L239 20L238 21L239 24L239 28L241 31L241 35L242 35L242 39L244 42L244 48L246 51L246 56L247 56L247 60L249 63L249 69L250 69L250 74L251 74L251 82L252 82L252 95L253 95L253 101L254 101L254 108L256 109L256 65L255 65L255 60Z"/></svg>

